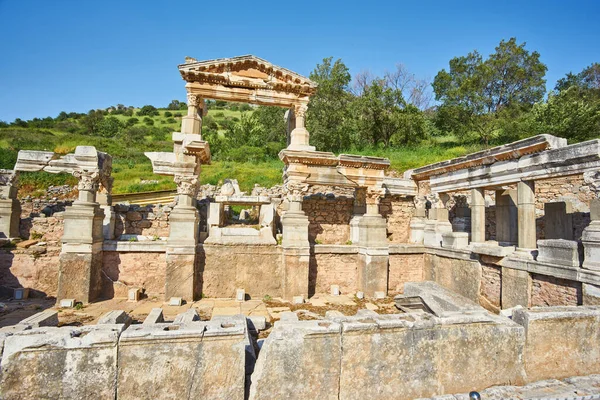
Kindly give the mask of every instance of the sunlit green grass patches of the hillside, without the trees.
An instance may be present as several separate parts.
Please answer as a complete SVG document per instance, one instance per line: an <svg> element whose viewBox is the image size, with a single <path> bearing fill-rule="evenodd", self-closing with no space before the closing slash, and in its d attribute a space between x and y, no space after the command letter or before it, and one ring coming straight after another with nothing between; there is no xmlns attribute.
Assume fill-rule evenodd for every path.
<svg viewBox="0 0 600 400"><path fill-rule="evenodd" d="M4 127L0 129L0 168L12 168L17 151L21 149L49 150L58 154L67 154L74 151L77 145L93 145L98 150L113 156L114 193L175 189L172 177L152 173L152 166L144 156L144 152L171 151L173 143L169 132L179 130L182 115L185 115L185 110L166 109L159 109L158 115L152 117L115 115L121 123L129 123L130 127L165 128L156 129L152 135L144 137L108 138L70 133L57 128ZM216 122L221 134L226 122L238 120L241 112L228 109L210 110L208 115ZM137 121L131 118L136 118ZM147 118L146 122L144 122L145 118ZM152 122L149 123L148 119ZM61 126L68 127L68 125L69 119ZM391 161L392 170L402 172L476 150L479 148L460 146L452 137L443 137L432 138L414 148L350 150L347 153L387 157ZM280 184L282 168L283 163L278 159L253 163L216 160L211 165L202 167L200 178L203 184L218 184L226 178L236 178L242 190L250 191L255 183L267 187ZM76 180L64 174L26 173L22 174L21 184L20 195L39 195L50 185L76 184Z"/></svg>

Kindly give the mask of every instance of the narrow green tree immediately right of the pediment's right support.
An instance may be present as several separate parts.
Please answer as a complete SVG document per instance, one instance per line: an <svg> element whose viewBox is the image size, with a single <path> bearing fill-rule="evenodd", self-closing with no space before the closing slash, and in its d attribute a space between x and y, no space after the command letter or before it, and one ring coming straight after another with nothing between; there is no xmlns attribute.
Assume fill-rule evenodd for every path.
<svg viewBox="0 0 600 400"><path fill-rule="evenodd" d="M310 79L319 85L306 114L311 144L323 151L348 149L355 132L348 67L340 59L333 62L333 57L325 58L311 72Z"/></svg>

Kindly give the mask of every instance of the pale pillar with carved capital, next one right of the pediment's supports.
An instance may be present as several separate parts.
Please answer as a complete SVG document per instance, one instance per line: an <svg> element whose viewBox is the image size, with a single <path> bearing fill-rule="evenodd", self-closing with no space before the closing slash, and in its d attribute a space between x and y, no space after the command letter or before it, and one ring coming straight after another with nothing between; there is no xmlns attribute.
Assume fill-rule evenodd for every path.
<svg viewBox="0 0 600 400"><path fill-rule="evenodd" d="M387 222L379 213L383 193L367 191L366 213L358 224L358 288L367 296L388 291L390 248L387 241Z"/></svg>

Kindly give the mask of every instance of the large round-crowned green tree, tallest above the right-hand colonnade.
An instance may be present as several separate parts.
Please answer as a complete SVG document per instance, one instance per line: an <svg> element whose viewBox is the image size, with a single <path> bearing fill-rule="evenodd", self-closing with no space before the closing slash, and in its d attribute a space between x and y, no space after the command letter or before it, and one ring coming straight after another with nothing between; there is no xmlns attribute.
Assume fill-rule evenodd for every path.
<svg viewBox="0 0 600 400"><path fill-rule="evenodd" d="M538 52L525 49L515 38L502 40L486 60L477 52L450 60L433 81L441 101L441 127L467 136L474 134L486 145L498 133L502 112L530 110L545 93L546 65Z"/></svg>

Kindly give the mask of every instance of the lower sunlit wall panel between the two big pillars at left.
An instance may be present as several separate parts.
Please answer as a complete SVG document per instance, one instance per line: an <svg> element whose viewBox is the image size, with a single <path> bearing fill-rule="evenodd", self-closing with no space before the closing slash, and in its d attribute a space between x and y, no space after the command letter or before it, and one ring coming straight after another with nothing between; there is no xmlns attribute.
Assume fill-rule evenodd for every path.
<svg viewBox="0 0 600 400"><path fill-rule="evenodd" d="M148 297L165 294L164 252L105 251L102 257L102 296L127 297L131 288L143 289Z"/></svg>

